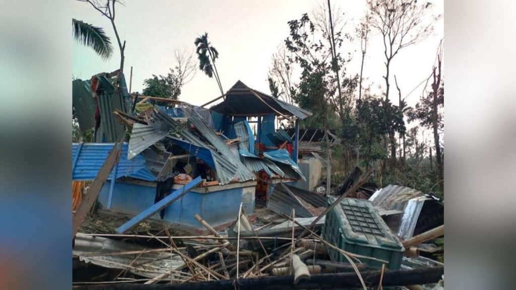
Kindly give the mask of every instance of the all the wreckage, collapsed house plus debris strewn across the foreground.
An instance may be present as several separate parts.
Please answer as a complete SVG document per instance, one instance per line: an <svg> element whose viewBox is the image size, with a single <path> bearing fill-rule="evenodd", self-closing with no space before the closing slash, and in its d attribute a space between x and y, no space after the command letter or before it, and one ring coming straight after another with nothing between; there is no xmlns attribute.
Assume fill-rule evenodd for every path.
<svg viewBox="0 0 516 290"><path fill-rule="evenodd" d="M95 143L72 143L74 271L106 270L89 281L84 270L74 288L366 289L441 279L442 264L421 262L416 248L444 234L444 225L421 221L430 197L396 186L372 195L372 171L359 168L334 197L313 192L325 160L300 150L299 140L322 133L299 136L298 123L311 112L240 81L210 109L124 86L118 71L73 81L79 126L95 130ZM292 128L275 130L278 116ZM345 206L360 208L350 217ZM336 212L348 227L336 224ZM117 218L85 232L105 216ZM376 250L346 247L337 236ZM396 246L395 262L378 255L386 244Z"/></svg>

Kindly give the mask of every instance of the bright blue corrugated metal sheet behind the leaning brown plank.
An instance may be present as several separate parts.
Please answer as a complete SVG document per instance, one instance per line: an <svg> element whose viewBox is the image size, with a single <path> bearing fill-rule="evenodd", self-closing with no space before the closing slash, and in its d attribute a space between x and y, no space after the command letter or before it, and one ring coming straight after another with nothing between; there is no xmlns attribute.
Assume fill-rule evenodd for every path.
<svg viewBox="0 0 516 290"><path fill-rule="evenodd" d="M72 180L93 180L104 164L114 143L72 143ZM115 165L116 178L130 176L141 180L154 181L155 176L147 169L146 160L137 155L127 160L128 144L122 144L120 159ZM112 179L113 173L108 179Z"/></svg>

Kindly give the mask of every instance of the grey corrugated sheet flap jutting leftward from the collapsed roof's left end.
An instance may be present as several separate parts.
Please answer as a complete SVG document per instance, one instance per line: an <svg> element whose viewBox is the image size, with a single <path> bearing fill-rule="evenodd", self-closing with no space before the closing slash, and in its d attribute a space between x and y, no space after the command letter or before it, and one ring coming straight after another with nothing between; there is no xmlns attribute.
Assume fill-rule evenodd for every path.
<svg viewBox="0 0 516 290"><path fill-rule="evenodd" d="M133 124L127 159L131 160L134 156L143 152L143 150L151 147L152 144L163 139L168 133L168 131L156 130L153 126L140 123Z"/></svg>

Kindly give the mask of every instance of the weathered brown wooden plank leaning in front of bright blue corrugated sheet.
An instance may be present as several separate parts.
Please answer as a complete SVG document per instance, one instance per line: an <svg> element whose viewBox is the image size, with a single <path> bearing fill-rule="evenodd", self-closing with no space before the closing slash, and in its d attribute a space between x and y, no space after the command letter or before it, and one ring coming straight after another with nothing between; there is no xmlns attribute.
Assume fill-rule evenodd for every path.
<svg viewBox="0 0 516 290"><path fill-rule="evenodd" d="M99 196L99 192L102 189L102 186L106 182L113 166L118 162L118 158L120 158L120 150L122 146L120 143L115 143L113 149L107 155L106 161L102 165L97 173L95 179L91 183L86 196L83 199L83 202L80 203L79 208L73 215L72 218L72 239L75 237L75 234L79 230L79 226L83 223L84 219L88 215L91 207L96 201L96 198ZM78 154L79 152L77 152Z"/></svg>

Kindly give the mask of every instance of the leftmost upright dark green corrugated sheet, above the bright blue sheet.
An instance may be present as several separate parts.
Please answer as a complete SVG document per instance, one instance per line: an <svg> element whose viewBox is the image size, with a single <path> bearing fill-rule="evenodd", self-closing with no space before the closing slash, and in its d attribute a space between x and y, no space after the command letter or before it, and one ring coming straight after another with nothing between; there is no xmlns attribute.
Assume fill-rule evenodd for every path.
<svg viewBox="0 0 516 290"><path fill-rule="evenodd" d="M95 126L95 101L91 95L89 80L72 81L72 106L81 132Z"/></svg>

